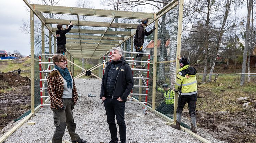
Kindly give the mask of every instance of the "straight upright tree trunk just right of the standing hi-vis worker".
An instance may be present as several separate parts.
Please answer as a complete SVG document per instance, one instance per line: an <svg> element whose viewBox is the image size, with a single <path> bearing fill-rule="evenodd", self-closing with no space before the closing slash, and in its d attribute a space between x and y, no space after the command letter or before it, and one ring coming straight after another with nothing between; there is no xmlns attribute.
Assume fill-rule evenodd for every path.
<svg viewBox="0 0 256 143"><path fill-rule="evenodd" d="M206 76L207 76L207 59L208 59L208 46L209 46L209 14L210 14L210 0L208 0L208 6L207 6L207 20L206 20L206 39L205 39L205 66L203 67L203 78L202 82L206 82Z"/></svg>

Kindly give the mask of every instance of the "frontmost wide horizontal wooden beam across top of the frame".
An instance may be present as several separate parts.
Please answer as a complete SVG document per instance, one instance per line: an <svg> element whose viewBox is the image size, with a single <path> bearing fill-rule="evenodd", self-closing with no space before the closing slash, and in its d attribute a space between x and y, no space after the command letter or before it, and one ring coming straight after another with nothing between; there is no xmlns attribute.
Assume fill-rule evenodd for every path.
<svg viewBox="0 0 256 143"><path fill-rule="evenodd" d="M128 12L128 11L114 11L114 10L99 10L99 9L85 9L85 8L74 8L65 6L52 6L52 5L39 5L35 4L35 10L46 12L46 13L60 13L60 14L79 14L79 15L90 15L90 16L104 16L104 17L123 17L123 18L144 18L148 17L153 19L154 13L145 12Z"/></svg>

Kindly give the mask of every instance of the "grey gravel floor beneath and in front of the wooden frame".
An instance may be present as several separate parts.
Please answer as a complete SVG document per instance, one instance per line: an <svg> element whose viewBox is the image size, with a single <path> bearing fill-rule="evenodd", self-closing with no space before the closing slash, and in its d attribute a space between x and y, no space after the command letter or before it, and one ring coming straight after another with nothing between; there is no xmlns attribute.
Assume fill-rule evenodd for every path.
<svg viewBox="0 0 256 143"><path fill-rule="evenodd" d="M97 79L77 79L75 84L78 94L81 95L73 110L75 123L77 124L76 132L88 143L108 143L110 133L104 105L99 98L101 81ZM96 98L88 97L87 95L90 93L95 95ZM182 130L176 130L169 125L165 125L163 123L165 120L151 112L143 115L142 106L139 104L126 103L125 120L127 143L200 142ZM46 143L51 140L55 126L53 125L53 112L49 107L39 110L28 122L35 122L36 124L27 126L25 123L4 143ZM221 142L207 131L199 129L198 134L208 141ZM70 140L67 129L63 140Z"/></svg>

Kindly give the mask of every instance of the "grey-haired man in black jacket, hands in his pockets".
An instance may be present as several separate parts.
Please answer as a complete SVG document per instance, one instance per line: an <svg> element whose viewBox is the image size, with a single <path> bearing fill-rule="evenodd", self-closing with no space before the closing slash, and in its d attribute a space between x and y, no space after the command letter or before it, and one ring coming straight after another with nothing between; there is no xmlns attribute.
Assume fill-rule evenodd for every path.
<svg viewBox="0 0 256 143"><path fill-rule="evenodd" d="M112 49L112 62L107 63L101 83L100 98L104 102L107 123L111 134L109 143L117 143L115 115L119 126L121 143L126 143L125 102L133 87L133 75L129 64L124 60L120 47Z"/></svg>

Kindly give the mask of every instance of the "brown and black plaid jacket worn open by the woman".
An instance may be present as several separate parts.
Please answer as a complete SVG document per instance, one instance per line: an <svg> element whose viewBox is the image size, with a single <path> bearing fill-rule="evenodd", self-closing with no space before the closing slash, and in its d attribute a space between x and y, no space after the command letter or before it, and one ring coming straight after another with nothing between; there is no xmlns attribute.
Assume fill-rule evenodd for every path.
<svg viewBox="0 0 256 143"><path fill-rule="evenodd" d="M73 78L73 75L70 72L71 77ZM74 81L74 78L73 78ZM49 76L47 77L47 91L48 95L50 96L51 104L50 108L58 109L58 106L62 108L62 95L64 91L64 82L62 80L62 76L59 73L59 71L51 71ZM74 103L77 102L78 94L77 94L77 88L75 87L75 82L73 82L73 90L72 90L72 100L74 100Z"/></svg>

